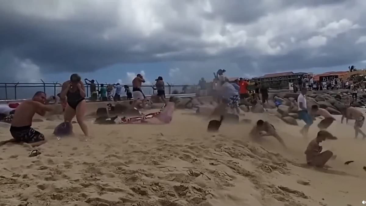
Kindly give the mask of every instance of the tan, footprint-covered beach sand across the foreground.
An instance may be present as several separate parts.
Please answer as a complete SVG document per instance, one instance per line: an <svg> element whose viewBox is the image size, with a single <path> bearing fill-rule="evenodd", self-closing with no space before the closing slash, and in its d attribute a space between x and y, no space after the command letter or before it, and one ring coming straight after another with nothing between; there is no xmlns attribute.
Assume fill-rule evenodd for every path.
<svg viewBox="0 0 366 206"><path fill-rule="evenodd" d="M332 168L315 170L299 165L320 120L305 139L300 127L272 115L245 118L267 119L290 149L272 137L250 141L252 125L223 124L219 133L207 133L208 120L190 110L177 110L169 125L95 125L89 119L92 137L74 125L76 135L60 140L52 132L62 118L44 118L33 125L48 139L37 147L41 155L28 157L32 148L22 145L0 147L0 205L356 206L366 200L366 141L354 139L353 120L328 129L339 139L322 145L337 158L328 163ZM1 125L0 140L9 138Z"/></svg>

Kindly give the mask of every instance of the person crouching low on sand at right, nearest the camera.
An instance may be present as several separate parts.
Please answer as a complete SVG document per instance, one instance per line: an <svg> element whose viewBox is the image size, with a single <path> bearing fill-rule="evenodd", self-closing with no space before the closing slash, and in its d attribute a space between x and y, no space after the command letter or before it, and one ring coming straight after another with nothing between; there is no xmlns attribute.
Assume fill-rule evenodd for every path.
<svg viewBox="0 0 366 206"><path fill-rule="evenodd" d="M325 163L333 156L333 152L329 150L321 152L323 148L319 146L319 143L332 136L329 132L321 130L318 132L317 137L310 141L305 151L306 163L308 165L319 168L324 167Z"/></svg>

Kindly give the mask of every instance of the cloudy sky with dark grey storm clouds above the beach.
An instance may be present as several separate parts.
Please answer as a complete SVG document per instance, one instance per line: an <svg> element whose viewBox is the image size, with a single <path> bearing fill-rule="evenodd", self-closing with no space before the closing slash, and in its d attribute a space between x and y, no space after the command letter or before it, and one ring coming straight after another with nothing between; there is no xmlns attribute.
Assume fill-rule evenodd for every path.
<svg viewBox="0 0 366 206"><path fill-rule="evenodd" d="M0 4L0 68L6 71L0 79L149 62L171 62L171 78L219 68L251 76L366 60L363 0Z"/></svg>

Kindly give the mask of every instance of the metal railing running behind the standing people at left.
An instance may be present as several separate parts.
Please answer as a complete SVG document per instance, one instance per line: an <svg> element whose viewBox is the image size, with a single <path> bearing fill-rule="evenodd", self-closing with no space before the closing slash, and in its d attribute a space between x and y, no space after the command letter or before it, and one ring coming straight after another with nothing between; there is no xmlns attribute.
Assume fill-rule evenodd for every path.
<svg viewBox="0 0 366 206"><path fill-rule="evenodd" d="M90 94L89 94L90 85L88 85L88 84L84 84L84 85L85 85L85 90L86 90L85 91L86 98L88 98L88 97L90 97ZM97 90L99 90L100 85L101 84L98 84L98 83L96 84ZM105 85L105 87L107 87L108 84L105 83L104 85ZM132 89L132 84L121 84L121 85L127 85L128 87L130 87L130 89ZM146 85L146 84L144 85L143 84L141 87L142 87L142 89L148 88L148 89L150 89L150 91L152 91L153 94L155 93L155 90L154 90L155 85ZM0 101L4 102L4 101L19 100L18 92L19 92L20 88L40 88L40 91L43 91L43 92L47 93L48 95L50 93L53 93L53 96L56 96L58 93L56 91L61 91L62 83L45 82L43 80L41 80L41 82L0 83L0 95L3 93L3 91L4 91L3 89L5 89L5 92L4 92L5 95L2 95L3 97L0 96ZM192 91L192 90L196 91L198 86L197 85L172 85L172 84L169 84L168 82L165 82L165 89L166 89L167 95L172 94L172 92L174 92L175 89L178 91L178 93L180 93L180 91L182 91L183 88L188 88L187 93L190 93L189 91ZM29 93L29 91L27 91L27 92ZM26 92L23 92L23 93L26 93ZM31 95L33 95L33 93L31 93L26 98L30 98ZM151 94L151 92L150 92L150 94ZM146 95L146 96L149 96L149 95ZM25 99L25 98L23 97L20 99Z"/></svg>

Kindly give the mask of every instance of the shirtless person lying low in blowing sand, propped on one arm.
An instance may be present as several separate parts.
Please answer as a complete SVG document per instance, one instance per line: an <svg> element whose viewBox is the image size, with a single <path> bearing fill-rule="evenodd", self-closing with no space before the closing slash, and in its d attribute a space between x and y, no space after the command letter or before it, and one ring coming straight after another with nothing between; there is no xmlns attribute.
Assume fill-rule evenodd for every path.
<svg viewBox="0 0 366 206"><path fill-rule="evenodd" d="M265 131L265 134L262 134L261 132ZM258 139L260 137L264 136L274 136L284 147L286 147L283 139L278 135L276 132L275 127L270 124L267 121L263 121L262 119L259 119L257 121L257 125L253 127L253 129L250 131L249 135L255 139Z"/></svg>

